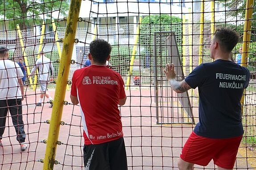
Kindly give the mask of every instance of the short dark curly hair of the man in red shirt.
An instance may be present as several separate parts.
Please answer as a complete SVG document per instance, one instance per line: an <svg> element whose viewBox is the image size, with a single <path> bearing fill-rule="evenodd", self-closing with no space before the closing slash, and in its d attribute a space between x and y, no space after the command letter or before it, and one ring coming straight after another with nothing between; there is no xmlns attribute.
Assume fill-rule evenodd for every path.
<svg viewBox="0 0 256 170"><path fill-rule="evenodd" d="M98 63L106 63L111 52L111 45L105 40L97 39L90 43L90 54L93 61Z"/></svg>

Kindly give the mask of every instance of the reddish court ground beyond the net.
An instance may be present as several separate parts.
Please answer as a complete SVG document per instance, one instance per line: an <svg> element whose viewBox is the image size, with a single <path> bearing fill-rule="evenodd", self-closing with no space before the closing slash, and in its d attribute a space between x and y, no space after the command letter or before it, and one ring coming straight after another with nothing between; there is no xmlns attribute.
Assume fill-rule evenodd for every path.
<svg viewBox="0 0 256 170"><path fill-rule="evenodd" d="M39 90L37 89L37 93ZM54 96L54 91L49 90ZM6 129L0 147L0 170L42 170L43 163L39 160L45 157L46 144L43 140L48 137L52 108L49 103L36 107L39 95L27 91L27 98L23 101L23 120L27 133L28 149L20 151L16 141L16 134L12 126L11 117L8 117ZM70 102L70 91L66 91L65 100ZM121 107L123 132L126 143L129 170L178 170L177 161L182 146L186 142L193 126L191 124L156 124L155 103L152 90L127 90L126 105ZM47 102L47 100L45 100ZM160 115L171 108L163 107ZM197 113L197 108L193 109ZM195 118L197 117L194 114ZM59 141L63 144L57 146L56 160L60 162L54 170L83 170L82 159L82 125L80 109L71 104L63 108ZM197 122L197 120L195 119ZM244 151L245 150L245 151ZM244 158L246 148L241 147L237 155L235 169L255 169L250 164L251 159ZM246 154L247 155L247 154ZM252 160L253 162L253 160ZM195 166L195 169L203 168ZM216 168L211 162L205 169Z"/></svg>

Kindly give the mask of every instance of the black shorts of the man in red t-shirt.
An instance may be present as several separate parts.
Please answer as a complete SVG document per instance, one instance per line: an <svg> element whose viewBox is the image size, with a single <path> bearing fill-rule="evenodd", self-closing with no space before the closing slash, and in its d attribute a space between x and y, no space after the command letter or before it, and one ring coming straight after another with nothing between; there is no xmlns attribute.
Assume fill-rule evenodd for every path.
<svg viewBox="0 0 256 170"><path fill-rule="evenodd" d="M85 170L128 170L124 139L84 146Z"/></svg>

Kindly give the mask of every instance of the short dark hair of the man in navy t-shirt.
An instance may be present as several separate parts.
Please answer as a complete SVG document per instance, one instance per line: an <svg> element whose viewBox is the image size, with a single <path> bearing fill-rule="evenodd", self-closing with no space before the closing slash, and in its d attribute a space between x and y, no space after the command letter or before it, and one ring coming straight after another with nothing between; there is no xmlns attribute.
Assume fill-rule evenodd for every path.
<svg viewBox="0 0 256 170"><path fill-rule="evenodd" d="M239 34L229 28L217 29L214 37L223 52L231 52L239 40Z"/></svg>

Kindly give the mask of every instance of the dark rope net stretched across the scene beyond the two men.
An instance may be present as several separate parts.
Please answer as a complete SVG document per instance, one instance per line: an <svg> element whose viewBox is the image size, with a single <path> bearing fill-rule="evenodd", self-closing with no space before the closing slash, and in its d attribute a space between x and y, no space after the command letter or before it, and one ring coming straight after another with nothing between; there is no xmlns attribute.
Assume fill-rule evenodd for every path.
<svg viewBox="0 0 256 170"><path fill-rule="evenodd" d="M9 49L9 59L22 57L27 75L37 66L40 51L53 64L53 81L47 84L54 96L62 39L65 36L69 0L2 0L0 5L0 46ZM214 5L213 11L212 3ZM26 7L24 13L22 8ZM89 43L96 39L112 45L110 64L122 75L126 84L126 105L120 107L129 170L178 169L178 159L189 134L198 123L198 90L178 95L171 90L163 73L166 63L175 63L178 79L182 80L200 63L208 63L213 29L228 27L240 33L241 39L233 51L235 58L243 43L245 23L244 0L85 0L78 20L69 79L73 72L85 66ZM252 7L251 40L246 63L251 72L244 100L244 137L234 169L256 168L256 18ZM203 30L200 21L203 14ZM17 27L19 24L19 27ZM200 35L203 42L200 43ZM171 39L170 39L171 37ZM173 38L173 39L172 39ZM170 41L168 41L170 39ZM174 41L175 40L175 41ZM202 54L200 47L202 45ZM170 57L172 56L172 57ZM6 71L2 68L0 71ZM50 76L50 67L44 74ZM41 82L34 73L25 79L26 98L22 101L22 118L28 148L21 151L16 140L15 115L0 112L6 119L0 146L1 170L42 169L45 143L51 117L51 99L40 101ZM1 75L0 75L1 76ZM7 78L8 79L8 78ZM4 78L0 79L0 82ZM0 85L1 87L1 85ZM1 87L0 90L6 87ZM83 170L83 128L80 108L66 93L61 130L55 158L56 170ZM7 96L6 96L7 97ZM18 96L16 96L18 98ZM0 99L2 100L2 99ZM54 99L53 99L54 100ZM53 102L54 103L54 102ZM0 106L9 108L9 106ZM196 169L215 169L213 162Z"/></svg>

